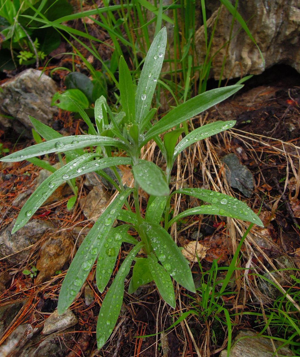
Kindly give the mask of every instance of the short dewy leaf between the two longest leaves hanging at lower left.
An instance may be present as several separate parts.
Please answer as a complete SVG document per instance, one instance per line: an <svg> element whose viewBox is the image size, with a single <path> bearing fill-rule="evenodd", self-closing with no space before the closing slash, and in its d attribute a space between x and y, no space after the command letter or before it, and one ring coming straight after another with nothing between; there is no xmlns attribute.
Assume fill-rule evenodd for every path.
<svg viewBox="0 0 300 357"><path fill-rule="evenodd" d="M103 292L110 280L122 244L122 237L127 233L129 227L122 225L111 228L105 238L104 249L99 252L97 258L96 283L100 292Z"/></svg>

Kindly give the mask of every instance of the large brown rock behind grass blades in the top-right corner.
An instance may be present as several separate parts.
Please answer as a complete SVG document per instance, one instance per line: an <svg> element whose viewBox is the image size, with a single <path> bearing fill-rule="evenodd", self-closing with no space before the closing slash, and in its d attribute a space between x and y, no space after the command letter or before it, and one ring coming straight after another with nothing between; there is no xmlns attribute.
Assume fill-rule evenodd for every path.
<svg viewBox="0 0 300 357"><path fill-rule="evenodd" d="M234 5L234 1L230 1ZM240 30L240 24L234 21L230 45L229 40L232 15L220 2L207 2L207 12L212 15L207 20L208 35L212 32L215 20L218 22L215 29L210 56L217 51L214 57L210 77L219 80L222 73L222 64L226 55L226 62L222 79L237 78L248 74L260 74L265 68L275 64L286 64L300 72L300 6L299 0L240 0L237 10L248 25L248 28L257 42L265 59L265 68L259 51L246 32ZM238 32L239 31L239 32ZM206 55L204 26L195 32L195 49L199 63L203 63ZM209 40L209 39L208 39ZM223 48L222 48L223 47ZM197 58L197 56L195 56ZM236 64L240 62L243 70Z"/></svg>

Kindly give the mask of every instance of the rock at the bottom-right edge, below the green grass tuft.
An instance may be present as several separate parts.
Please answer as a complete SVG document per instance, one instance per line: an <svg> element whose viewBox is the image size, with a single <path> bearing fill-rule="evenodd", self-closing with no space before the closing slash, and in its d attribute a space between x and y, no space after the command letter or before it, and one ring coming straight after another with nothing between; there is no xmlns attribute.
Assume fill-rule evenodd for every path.
<svg viewBox="0 0 300 357"><path fill-rule="evenodd" d="M272 342L266 337L256 337L257 333L250 330L239 331L237 337L234 341L238 341L240 338L242 340L237 343L232 342L232 348L229 353L229 357L244 357L244 356L255 356L255 357L273 357L274 350ZM249 337L249 338L245 338ZM255 338L253 338L255 337ZM273 340L274 345L278 348L281 343ZM282 347L277 351L280 356L294 356L293 352L287 347ZM226 357L227 351L223 350L220 357Z"/></svg>

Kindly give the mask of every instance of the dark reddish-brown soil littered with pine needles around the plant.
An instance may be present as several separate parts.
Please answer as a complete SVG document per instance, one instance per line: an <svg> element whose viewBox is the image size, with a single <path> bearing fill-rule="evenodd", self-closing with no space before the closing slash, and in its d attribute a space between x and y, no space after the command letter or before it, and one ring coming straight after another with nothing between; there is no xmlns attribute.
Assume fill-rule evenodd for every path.
<svg viewBox="0 0 300 357"><path fill-rule="evenodd" d="M64 73L61 73L61 76L63 75ZM265 245L263 247L263 243L258 243L261 250L260 253L256 252L256 257L253 259L256 266L259 266L261 261L266 262L268 258L286 255L293 260L297 267L300 267L299 80L300 75L290 67L275 66L264 74L255 76L246 82L244 89L239 94L214 107L206 115L203 114L194 120L195 126L203 124L205 120L230 119L237 121L229 134L215 136L209 141L210 145L214 147L214 152L217 155L216 165L219 166L217 171L214 171L211 167L208 170L215 182L217 182L216 172L222 178L222 182L225 182L225 176L222 174L224 168L222 168L219 159L225 154L233 152L239 157L240 163L248 167L253 174L255 185L250 199L246 200L236 189L230 189L230 192L245 200L256 211L262 205L263 216L261 217L266 228L264 232L259 231L259 234L269 241L270 246ZM84 129L82 121L73 120L68 114L57 117L54 127L56 130L67 132L67 134L77 134ZM4 136L1 138L1 142L10 151L14 147L13 137ZM14 150L19 150L31 144L32 141L20 141L15 145ZM204 147L204 150L209 147L208 143L206 145L207 147L206 149ZM194 170L192 178L185 174L185 182L188 185L201 187L204 181L200 157L198 157L199 161L195 162L197 161L197 157L196 159L193 158L195 151L189 154L191 155L190 160L193 161ZM186 155L188 155L188 152ZM55 162L55 157L50 157L50 159L52 163ZM181 165L184 166L186 161L183 156ZM289 170L287 170L287 167ZM37 167L28 162L3 166L0 181L1 228L5 228L17 216L21 203L18 206L12 206L12 201L17 195L26 192L32 186L32 181L38 175L38 171ZM176 175L176 170L173 174ZM82 181L79 191L82 192L82 196L88 193L87 188L83 187ZM79 205L76 205L73 213L68 212L66 209L67 198L61 198L57 202L44 205L37 211L36 218L49 220L57 229L69 228L73 224L82 226L85 217L82 215ZM193 202L183 201L183 205L193 205ZM209 247L210 255L207 257L210 256L210 258L206 260L204 258L202 261L203 270L208 270L211 267L213 258L222 257L220 265L228 265L234 247L227 236L227 221L225 219L206 217L199 221L197 217L191 217L182 224L185 224L185 226L179 225L177 227L179 242L193 240L192 233L196 232L200 236L200 241L206 242L206 246ZM186 228L186 226L189 228ZM203 235L202 238L201 234ZM228 241L225 243L225 249L222 244L224 244L224 241L226 242L226 239ZM39 257L40 247L40 244L36 244L34 250L31 250L30 262L33 266L35 266ZM117 267L129 248L129 245L122 246ZM245 246L243 249L246 256L249 246ZM225 258L224 251L226 251ZM246 258L244 257L242 265L245 262ZM32 306L35 308L23 310L22 319L17 316L14 326L24 322L25 316L33 327L40 327L49 313L53 312L57 306L60 284L68 264L63 267L61 274L50 280L50 283L39 286L35 284L35 278L30 278L22 273L25 266L26 262L12 266L5 260L0 260L1 306L16 300L32 299ZM199 280L201 272L197 264L194 264L192 271L195 280ZM95 272L95 267L92 272ZM127 291L128 283L127 281L125 291ZM176 328L169 330L171 332L164 337L154 335L136 338L136 336L156 334L171 326L177 318L178 311L175 314L170 311L160 300L155 286L149 284L140 289L138 295L131 296L125 292L121 317L118 320L120 324L117 325L116 333L103 347L103 353L97 353L95 331L99 304L104 294L101 295L97 291L95 279L92 276L89 276L88 284L94 292L95 300L90 306L86 306L82 293L72 304L71 309L78 318L78 323L71 331L67 332L72 334L73 339L68 340L67 352L63 356L102 356L103 353L105 356L113 357L162 356L162 351L166 348L171 351L168 357L197 356L194 343L203 351L205 336L207 336L205 335L206 331L215 328L208 326L208 322L202 321L200 318L189 317L187 324L180 323ZM179 299L177 300L178 309L184 309L185 306L191 304L192 301L186 295L187 291L178 286L176 292ZM240 290L239 293L241 295ZM243 301L243 298L241 298L241 301ZM233 307L232 302L233 300L228 298L226 301L228 308ZM213 323L217 322L214 321ZM251 327L251 323L250 320L241 319L237 329ZM195 341L190 337L188 330L192 331ZM208 341L206 344L208 347L205 348L209 348L210 353L215 353L215 356L218 356L222 346L223 348L225 346L223 343L225 335L220 326L216 331L219 331L219 336ZM64 332L61 332L59 336L63 340Z"/></svg>

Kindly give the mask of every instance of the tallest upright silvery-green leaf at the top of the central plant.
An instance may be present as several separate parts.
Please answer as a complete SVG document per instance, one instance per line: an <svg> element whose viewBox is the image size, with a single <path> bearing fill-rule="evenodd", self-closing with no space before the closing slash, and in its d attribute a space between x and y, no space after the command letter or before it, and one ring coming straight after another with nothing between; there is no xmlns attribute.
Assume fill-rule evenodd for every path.
<svg viewBox="0 0 300 357"><path fill-rule="evenodd" d="M137 124L143 125L143 119L150 109L157 79L162 69L166 44L167 30L163 27L149 48L139 77L135 99Z"/></svg>

